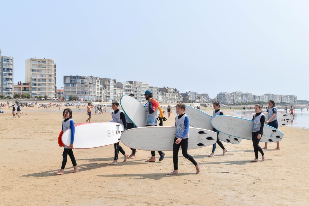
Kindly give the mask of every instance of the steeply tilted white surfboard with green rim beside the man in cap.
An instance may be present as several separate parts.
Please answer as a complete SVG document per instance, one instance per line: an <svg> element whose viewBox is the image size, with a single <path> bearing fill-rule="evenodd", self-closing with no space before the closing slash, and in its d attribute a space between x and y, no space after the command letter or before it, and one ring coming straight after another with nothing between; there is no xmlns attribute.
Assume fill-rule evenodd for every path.
<svg viewBox="0 0 309 206"><path fill-rule="evenodd" d="M129 95L123 95L120 98L120 105L136 127L146 126L146 110L141 103Z"/></svg>

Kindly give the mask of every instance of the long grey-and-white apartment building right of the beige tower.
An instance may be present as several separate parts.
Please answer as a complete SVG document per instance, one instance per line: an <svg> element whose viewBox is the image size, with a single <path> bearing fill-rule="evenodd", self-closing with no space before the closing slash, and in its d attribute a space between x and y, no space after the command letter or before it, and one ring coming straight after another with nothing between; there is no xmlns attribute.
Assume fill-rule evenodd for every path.
<svg viewBox="0 0 309 206"><path fill-rule="evenodd" d="M104 87L105 81L107 81L107 79L93 76L63 76L64 99L69 99L70 96L78 96L80 101L106 102L109 98L107 98L107 91ZM113 83L114 80L112 80L112 84ZM116 87L114 88L114 86L112 86L112 88L112 100L114 100ZM108 97L110 97L110 94L111 92L109 92Z"/></svg>

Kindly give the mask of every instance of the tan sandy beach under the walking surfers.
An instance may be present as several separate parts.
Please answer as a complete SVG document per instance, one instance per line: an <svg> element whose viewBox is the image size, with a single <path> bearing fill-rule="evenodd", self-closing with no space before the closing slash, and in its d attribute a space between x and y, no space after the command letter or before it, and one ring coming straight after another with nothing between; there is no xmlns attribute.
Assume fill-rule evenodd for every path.
<svg viewBox="0 0 309 206"><path fill-rule="evenodd" d="M113 145L95 149L74 149L79 172L69 174L70 158L64 175L55 175L61 167L63 148L57 144L62 111L55 108L22 108L27 115L12 118L11 109L0 114L1 131L1 205L308 205L309 130L285 126L280 149L269 143L264 162L254 159L252 141L239 145L223 142L214 157L207 157L212 146L188 153L201 164L201 173L179 153L179 172L173 170L172 151L165 158L146 163L150 151L138 150L137 158L118 164L113 161ZM3 109L3 108L1 108ZM86 107L73 111L75 123L88 118ZM205 110L212 114L212 109ZM230 111L223 110L228 115ZM111 120L111 110L93 116L91 122ZM164 126L174 126L175 109ZM16 116L17 117L17 116ZM166 116L167 117L167 114ZM193 118L193 117L190 117ZM173 138L173 137L172 137ZM127 153L131 150L120 143ZM261 142L260 146L264 146ZM261 155L259 154L261 160Z"/></svg>

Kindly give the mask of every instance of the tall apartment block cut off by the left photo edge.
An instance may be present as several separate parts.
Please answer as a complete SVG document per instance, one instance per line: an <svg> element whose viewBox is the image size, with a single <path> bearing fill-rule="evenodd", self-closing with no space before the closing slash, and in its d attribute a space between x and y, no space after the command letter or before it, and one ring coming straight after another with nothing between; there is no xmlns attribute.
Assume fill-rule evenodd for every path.
<svg viewBox="0 0 309 206"><path fill-rule="evenodd" d="M13 97L14 58L2 56L0 50L0 94Z"/></svg>

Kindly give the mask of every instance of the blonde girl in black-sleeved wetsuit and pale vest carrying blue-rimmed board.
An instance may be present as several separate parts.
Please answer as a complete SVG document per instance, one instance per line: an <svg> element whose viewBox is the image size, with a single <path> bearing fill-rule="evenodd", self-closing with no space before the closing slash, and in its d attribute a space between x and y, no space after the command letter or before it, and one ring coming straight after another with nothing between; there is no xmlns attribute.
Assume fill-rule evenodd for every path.
<svg viewBox="0 0 309 206"><path fill-rule="evenodd" d="M256 104L254 106L254 111L256 112L256 114L254 114L252 118L253 120L252 142L253 142L255 159L251 160L250 162L259 162L259 152L262 155L262 161L265 160L265 154L263 152L263 149L259 146L259 142L263 135L265 116L262 113L262 106L260 104Z"/></svg>

